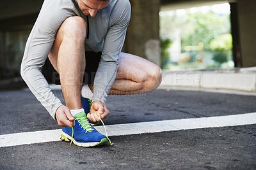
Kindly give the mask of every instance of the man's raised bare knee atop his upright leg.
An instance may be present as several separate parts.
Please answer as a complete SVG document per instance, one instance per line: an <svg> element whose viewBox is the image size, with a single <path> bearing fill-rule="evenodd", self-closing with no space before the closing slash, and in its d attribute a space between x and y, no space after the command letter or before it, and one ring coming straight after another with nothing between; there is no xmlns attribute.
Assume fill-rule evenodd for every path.
<svg viewBox="0 0 256 170"><path fill-rule="evenodd" d="M58 34L61 34L63 38L67 37L68 39L79 39L83 40L86 36L86 22L82 17L69 17L67 18L60 26Z"/></svg>

